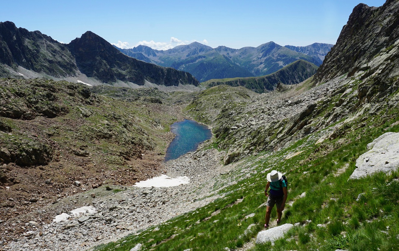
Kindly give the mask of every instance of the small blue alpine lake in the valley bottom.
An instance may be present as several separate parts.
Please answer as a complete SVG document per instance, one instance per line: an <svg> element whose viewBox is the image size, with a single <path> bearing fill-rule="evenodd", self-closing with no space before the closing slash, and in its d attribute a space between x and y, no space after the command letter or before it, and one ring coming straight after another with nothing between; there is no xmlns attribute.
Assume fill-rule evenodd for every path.
<svg viewBox="0 0 399 251"><path fill-rule="evenodd" d="M165 161L177 159L188 152L195 151L200 143L212 137L211 130L206 125L201 125L194 120L173 123L171 131L176 134L176 137L166 149Z"/></svg>

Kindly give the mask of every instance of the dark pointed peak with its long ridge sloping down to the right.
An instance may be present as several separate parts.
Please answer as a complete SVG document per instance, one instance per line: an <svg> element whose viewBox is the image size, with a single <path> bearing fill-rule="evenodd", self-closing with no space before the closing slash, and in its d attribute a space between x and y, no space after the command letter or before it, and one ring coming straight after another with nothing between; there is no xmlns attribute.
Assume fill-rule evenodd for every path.
<svg viewBox="0 0 399 251"><path fill-rule="evenodd" d="M82 73L105 83L121 80L143 85L147 80L165 86L199 84L189 73L128 57L91 31L71 41L68 48Z"/></svg>

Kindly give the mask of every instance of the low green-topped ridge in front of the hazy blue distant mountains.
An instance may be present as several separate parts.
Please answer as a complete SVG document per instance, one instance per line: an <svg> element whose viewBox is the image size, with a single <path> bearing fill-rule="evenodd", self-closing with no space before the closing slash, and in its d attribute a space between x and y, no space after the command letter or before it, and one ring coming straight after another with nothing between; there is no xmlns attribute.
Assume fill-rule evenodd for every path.
<svg viewBox="0 0 399 251"><path fill-rule="evenodd" d="M274 90L279 83L298 84L314 75L317 69L318 67L316 65L309 63L308 61L298 60L275 73L266 76L211 79L201 84L207 87L217 86L220 84L244 86L254 92L262 93Z"/></svg>

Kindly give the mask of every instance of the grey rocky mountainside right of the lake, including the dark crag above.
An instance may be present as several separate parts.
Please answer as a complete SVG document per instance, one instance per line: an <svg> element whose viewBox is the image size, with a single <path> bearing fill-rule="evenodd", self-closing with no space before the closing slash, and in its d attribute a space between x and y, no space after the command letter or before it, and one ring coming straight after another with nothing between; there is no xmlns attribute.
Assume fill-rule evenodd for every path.
<svg viewBox="0 0 399 251"><path fill-rule="evenodd" d="M228 150L225 164L239 159L240 155L277 150L310 133L324 131L331 125L334 125L334 131L330 132L328 138L335 139L352 126L364 126L362 122L367 120L368 114L376 114L386 103L395 106L399 84L399 33L396 32L397 22L391 21L397 4L397 1L387 1L379 8L357 6L314 78L298 86L278 86L277 92L283 93L281 98L276 97L276 92L252 95L243 104L243 100L227 99L225 102L221 99L225 95L224 90L217 88L199 94L188 106L189 113L197 120L213 126L219 147ZM370 18L373 13L377 18ZM363 15L360 20L363 20L361 22L364 22L365 27L359 26L356 21L360 14ZM393 25L381 30L375 22ZM387 34L386 29L392 33ZM365 39L369 34L365 30L374 39ZM361 43L357 43L357 39L363 39L369 45L365 47L370 47L370 50L360 50ZM388 44L389 47L385 48ZM379 49L375 55L372 51L376 48ZM350 53L342 51L358 53L358 57L350 57ZM356 65L365 67L337 68L343 62L346 62L346 67L352 66L348 60L355 59ZM352 72L345 72L347 70ZM314 88L306 91L312 86ZM277 101L272 102L273 105L268 104L275 99ZM209 107L215 109L209 111ZM322 141L320 139L319 143Z"/></svg>

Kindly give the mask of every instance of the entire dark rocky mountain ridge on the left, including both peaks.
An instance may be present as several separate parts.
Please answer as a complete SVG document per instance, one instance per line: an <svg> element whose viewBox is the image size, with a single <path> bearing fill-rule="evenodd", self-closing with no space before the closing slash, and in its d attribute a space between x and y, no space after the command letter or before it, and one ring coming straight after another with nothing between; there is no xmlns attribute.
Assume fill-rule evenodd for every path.
<svg viewBox="0 0 399 251"><path fill-rule="evenodd" d="M78 81L83 74L95 84L144 85L147 81L165 86L199 85L190 73L128 57L91 31L63 44L40 31L0 22L0 77L26 77L20 70Z"/></svg>

